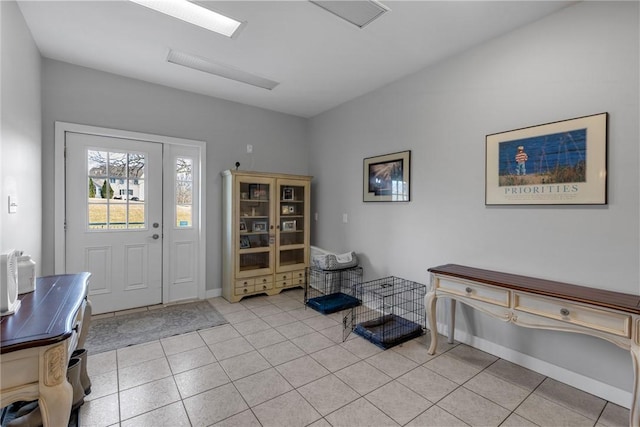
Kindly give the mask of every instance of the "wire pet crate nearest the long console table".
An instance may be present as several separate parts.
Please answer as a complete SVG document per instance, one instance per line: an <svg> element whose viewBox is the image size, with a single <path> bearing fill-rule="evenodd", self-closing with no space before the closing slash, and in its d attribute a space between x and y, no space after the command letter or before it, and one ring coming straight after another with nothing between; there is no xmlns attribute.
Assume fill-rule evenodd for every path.
<svg viewBox="0 0 640 427"><path fill-rule="evenodd" d="M393 276L363 283L362 305L353 310L350 322L344 319L345 338L349 326L383 349L419 337L426 327L426 290L425 285Z"/></svg>

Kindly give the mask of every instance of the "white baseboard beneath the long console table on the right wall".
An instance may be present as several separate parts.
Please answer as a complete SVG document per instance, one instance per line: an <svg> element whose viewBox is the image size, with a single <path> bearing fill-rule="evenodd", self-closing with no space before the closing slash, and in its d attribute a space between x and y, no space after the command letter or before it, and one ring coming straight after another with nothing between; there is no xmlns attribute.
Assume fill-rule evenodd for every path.
<svg viewBox="0 0 640 427"><path fill-rule="evenodd" d="M438 331L441 335L449 336L449 328L445 324L438 323ZM503 347L491 341L470 335L466 331L455 330L455 340L470 345L501 359L523 366L532 371L538 372L549 378L568 384L579 390L598 396L602 399L613 402L624 408L631 408L632 394L626 390L613 387L609 384L594 380L582 374L552 365L544 360L531 357L524 353Z"/></svg>

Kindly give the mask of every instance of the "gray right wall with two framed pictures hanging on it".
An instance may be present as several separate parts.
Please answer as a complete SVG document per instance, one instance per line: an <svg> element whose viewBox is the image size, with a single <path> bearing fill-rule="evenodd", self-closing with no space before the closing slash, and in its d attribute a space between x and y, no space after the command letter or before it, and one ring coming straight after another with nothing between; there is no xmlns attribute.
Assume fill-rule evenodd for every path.
<svg viewBox="0 0 640 427"><path fill-rule="evenodd" d="M582 2L313 118L312 242L355 250L369 279L428 283L428 267L457 263L637 295L638 40L637 2ZM607 206L484 205L485 135L605 111ZM363 203L363 158L407 149L411 202ZM630 356L609 343L462 309L467 320L489 342L631 389Z"/></svg>

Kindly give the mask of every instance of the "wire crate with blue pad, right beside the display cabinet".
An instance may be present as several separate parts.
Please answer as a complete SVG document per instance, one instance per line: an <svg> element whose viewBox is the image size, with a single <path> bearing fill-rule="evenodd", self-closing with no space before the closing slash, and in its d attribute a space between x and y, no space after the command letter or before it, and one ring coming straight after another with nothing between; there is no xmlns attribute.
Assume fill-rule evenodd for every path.
<svg viewBox="0 0 640 427"><path fill-rule="evenodd" d="M306 276L306 306L322 314L331 314L360 305L357 292L362 283L362 267L342 270L309 267Z"/></svg>

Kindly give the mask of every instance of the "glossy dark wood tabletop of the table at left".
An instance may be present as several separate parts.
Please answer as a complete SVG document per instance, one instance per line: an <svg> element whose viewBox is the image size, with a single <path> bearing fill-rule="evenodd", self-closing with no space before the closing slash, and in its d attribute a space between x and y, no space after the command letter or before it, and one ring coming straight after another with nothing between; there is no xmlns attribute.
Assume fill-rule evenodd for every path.
<svg viewBox="0 0 640 427"><path fill-rule="evenodd" d="M90 273L38 277L36 289L20 296L20 307L0 320L0 354L64 341L87 295Z"/></svg>

